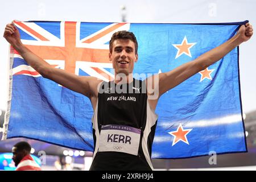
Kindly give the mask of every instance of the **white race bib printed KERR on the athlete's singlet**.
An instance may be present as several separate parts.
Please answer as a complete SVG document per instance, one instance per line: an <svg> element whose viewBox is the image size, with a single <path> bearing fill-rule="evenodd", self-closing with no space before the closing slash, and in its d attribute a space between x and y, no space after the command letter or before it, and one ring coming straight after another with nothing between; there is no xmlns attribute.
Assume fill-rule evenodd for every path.
<svg viewBox="0 0 256 182"><path fill-rule="evenodd" d="M131 126L104 125L101 126L100 152L114 151L138 155L141 130Z"/></svg>

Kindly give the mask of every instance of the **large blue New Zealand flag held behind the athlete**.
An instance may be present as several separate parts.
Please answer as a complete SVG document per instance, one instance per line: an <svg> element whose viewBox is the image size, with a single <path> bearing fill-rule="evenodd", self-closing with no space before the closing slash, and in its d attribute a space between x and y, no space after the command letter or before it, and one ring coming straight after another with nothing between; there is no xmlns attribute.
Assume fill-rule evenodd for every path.
<svg viewBox="0 0 256 182"><path fill-rule="evenodd" d="M168 72L219 46L245 22L202 24L15 22L23 44L52 67L108 81L109 40L134 32L134 73ZM160 98L152 158L246 152L238 47ZM104 74L102 74L104 73ZM24 137L93 151L87 97L43 78L10 49L10 93L3 139Z"/></svg>

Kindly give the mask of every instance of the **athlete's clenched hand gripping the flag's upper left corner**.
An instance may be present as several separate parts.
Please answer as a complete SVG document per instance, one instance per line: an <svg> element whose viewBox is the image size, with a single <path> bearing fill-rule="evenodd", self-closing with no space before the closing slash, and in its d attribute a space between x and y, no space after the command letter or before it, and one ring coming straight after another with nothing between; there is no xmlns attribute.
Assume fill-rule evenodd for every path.
<svg viewBox="0 0 256 182"><path fill-rule="evenodd" d="M3 37L11 44L11 46L18 46L22 44L20 41L20 34L18 28L16 28L14 21L12 23L6 24L5 32Z"/></svg>

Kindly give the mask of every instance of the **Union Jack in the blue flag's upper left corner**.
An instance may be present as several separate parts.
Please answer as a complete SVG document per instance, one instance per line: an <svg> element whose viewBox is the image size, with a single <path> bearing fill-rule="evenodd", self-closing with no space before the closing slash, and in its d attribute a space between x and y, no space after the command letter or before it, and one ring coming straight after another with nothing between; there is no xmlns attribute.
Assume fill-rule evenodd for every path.
<svg viewBox="0 0 256 182"><path fill-rule="evenodd" d="M114 77L108 59L109 42L116 31L129 30L130 23L99 23L99 30L91 34L90 26L81 22L53 22L44 28L40 22L18 22L22 43L53 67L76 75L89 75L108 81ZM95 24L94 24L95 26ZM80 32L82 31L82 34ZM27 34L27 36L25 36ZM20 57L15 51L15 57ZM20 57L22 59L22 57ZM19 65L13 75L40 76L29 65Z"/></svg>

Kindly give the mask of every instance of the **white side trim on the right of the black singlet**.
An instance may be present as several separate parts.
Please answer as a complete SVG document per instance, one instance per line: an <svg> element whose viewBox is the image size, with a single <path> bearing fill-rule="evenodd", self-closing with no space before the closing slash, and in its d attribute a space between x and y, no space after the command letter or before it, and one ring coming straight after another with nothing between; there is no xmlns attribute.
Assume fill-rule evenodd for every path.
<svg viewBox="0 0 256 182"><path fill-rule="evenodd" d="M155 114L155 111L151 109L150 104L147 99L147 120L146 120L146 126L145 126L145 129L143 132L143 137L142 137L142 150L143 150L144 156L147 160L147 163L152 170L154 170L154 168L153 168L150 154L149 154L148 147L147 147L147 139L148 139L148 135L151 132L151 127L155 125L157 119L158 119L158 115Z"/></svg>

